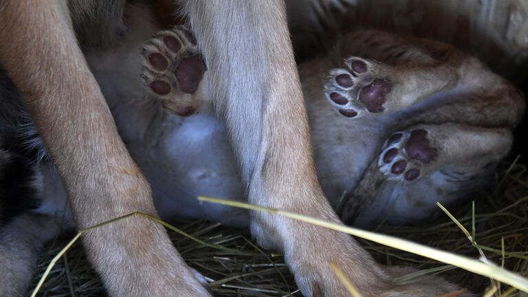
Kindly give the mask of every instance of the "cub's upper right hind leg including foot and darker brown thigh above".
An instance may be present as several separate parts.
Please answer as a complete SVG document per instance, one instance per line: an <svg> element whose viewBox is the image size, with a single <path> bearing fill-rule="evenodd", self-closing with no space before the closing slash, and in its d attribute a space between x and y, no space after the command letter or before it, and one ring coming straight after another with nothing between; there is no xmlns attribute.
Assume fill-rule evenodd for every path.
<svg viewBox="0 0 528 297"><path fill-rule="evenodd" d="M348 58L331 69L325 96L349 118L408 109L459 81L461 55L443 43L358 30L344 36L340 53Z"/></svg>

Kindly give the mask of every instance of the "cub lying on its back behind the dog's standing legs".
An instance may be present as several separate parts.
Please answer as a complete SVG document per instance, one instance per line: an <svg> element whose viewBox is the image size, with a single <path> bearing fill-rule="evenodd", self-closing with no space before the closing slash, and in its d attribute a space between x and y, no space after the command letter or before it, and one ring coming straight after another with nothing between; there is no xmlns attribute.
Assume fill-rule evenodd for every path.
<svg viewBox="0 0 528 297"><path fill-rule="evenodd" d="M213 87L203 80L206 63L186 28L159 32L144 45L143 58L144 83L164 107L192 115L183 122L198 130L219 125L209 115ZM248 71L259 71L258 65ZM449 205L485 186L525 108L519 91L476 58L385 32L347 34L327 56L300 65L299 73L320 183L342 219L354 225L425 219L437 211L437 201ZM175 151L166 152L187 164L188 175L171 178L192 198L179 198L242 199L230 148L214 144L225 142L223 131L209 136L199 142L208 156L182 155L174 146L184 144L175 143ZM220 213L212 215L225 217Z"/></svg>

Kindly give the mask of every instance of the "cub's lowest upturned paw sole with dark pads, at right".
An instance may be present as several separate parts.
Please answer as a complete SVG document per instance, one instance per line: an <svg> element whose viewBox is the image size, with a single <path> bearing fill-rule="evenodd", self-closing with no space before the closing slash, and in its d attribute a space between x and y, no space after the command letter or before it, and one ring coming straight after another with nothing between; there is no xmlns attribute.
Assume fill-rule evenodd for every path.
<svg viewBox="0 0 528 297"><path fill-rule="evenodd" d="M423 175L424 166L437 155L437 148L431 145L426 130L402 131L385 142L378 166L389 179L413 181Z"/></svg>

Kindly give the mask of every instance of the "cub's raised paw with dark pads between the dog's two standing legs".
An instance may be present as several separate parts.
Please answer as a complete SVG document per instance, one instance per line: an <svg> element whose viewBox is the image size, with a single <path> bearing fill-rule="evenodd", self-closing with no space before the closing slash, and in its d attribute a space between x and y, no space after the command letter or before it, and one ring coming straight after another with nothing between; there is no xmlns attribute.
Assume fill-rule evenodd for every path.
<svg viewBox="0 0 528 297"><path fill-rule="evenodd" d="M157 32L142 49L141 77L167 109L190 115L199 109L201 80L206 72L196 39L182 26Z"/></svg>

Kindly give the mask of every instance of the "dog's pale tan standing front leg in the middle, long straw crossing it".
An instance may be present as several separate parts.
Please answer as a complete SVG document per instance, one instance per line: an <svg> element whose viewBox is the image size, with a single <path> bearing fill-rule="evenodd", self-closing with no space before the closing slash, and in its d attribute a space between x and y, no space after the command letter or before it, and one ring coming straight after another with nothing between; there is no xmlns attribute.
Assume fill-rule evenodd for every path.
<svg viewBox="0 0 528 297"><path fill-rule="evenodd" d="M338 222L316 179L284 4L203 0L185 8L250 202ZM365 296L386 287L384 272L347 235L261 212L252 214L252 233L283 250L305 296L349 296L331 261Z"/></svg>

